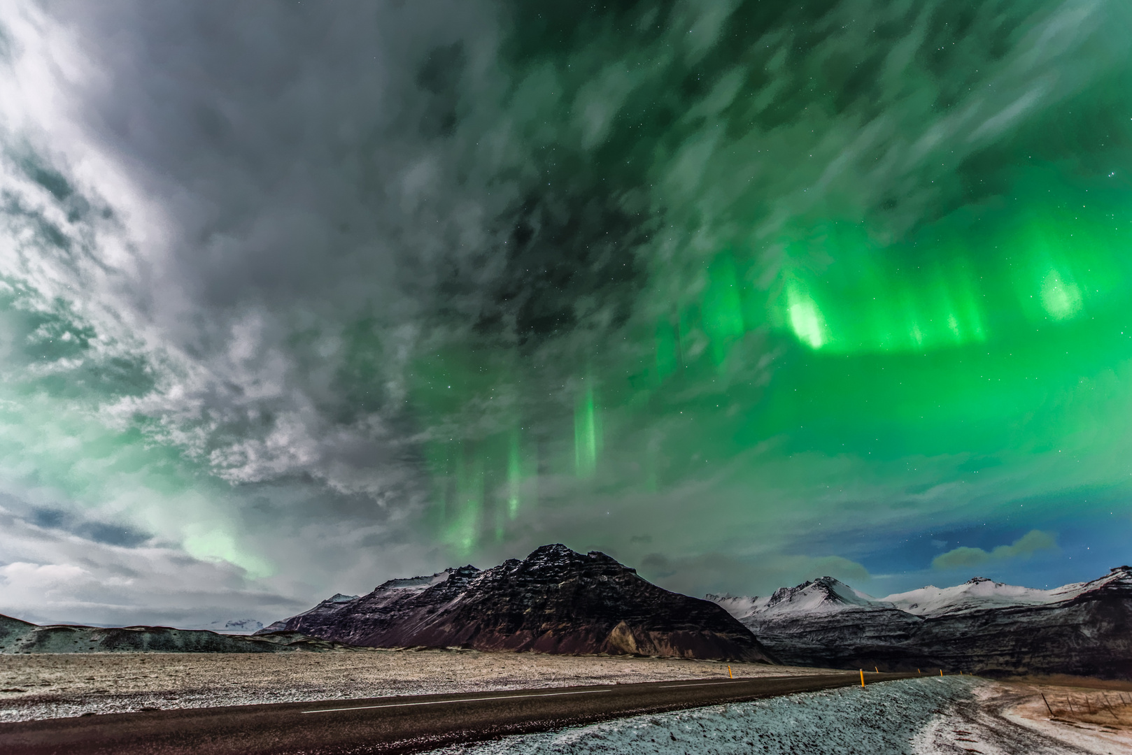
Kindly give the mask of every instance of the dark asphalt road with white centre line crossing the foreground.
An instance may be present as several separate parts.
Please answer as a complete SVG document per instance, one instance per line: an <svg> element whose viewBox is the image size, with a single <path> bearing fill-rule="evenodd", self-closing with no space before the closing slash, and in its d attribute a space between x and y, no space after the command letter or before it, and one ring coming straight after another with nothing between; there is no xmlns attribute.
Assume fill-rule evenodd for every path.
<svg viewBox="0 0 1132 755"><path fill-rule="evenodd" d="M866 674L866 683L908 678ZM500 735L860 684L856 674L234 705L0 723L5 755L419 753Z"/></svg>

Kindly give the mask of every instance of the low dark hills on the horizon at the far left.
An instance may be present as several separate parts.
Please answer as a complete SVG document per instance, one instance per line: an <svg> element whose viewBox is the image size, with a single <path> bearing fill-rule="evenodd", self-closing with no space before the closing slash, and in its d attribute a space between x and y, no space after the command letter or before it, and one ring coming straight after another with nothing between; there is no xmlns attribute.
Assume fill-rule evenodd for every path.
<svg viewBox="0 0 1132 755"><path fill-rule="evenodd" d="M257 623L258 624L258 623ZM172 627L40 626L0 615L0 655L15 653L277 653L345 649L299 633L257 637Z"/></svg>

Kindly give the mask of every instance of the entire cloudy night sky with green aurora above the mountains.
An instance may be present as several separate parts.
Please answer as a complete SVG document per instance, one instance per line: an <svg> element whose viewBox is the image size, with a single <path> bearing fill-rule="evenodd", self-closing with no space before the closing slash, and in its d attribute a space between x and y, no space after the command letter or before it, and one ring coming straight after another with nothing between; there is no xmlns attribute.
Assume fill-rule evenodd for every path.
<svg viewBox="0 0 1132 755"><path fill-rule="evenodd" d="M1123 0L0 5L0 612L1132 538Z"/></svg>

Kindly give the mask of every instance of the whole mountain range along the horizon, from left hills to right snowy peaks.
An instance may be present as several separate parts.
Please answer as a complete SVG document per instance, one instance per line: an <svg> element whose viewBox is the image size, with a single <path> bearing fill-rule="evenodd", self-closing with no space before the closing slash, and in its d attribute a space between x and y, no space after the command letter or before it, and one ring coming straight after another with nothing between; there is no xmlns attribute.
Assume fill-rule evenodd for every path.
<svg viewBox="0 0 1132 755"><path fill-rule="evenodd" d="M216 623L217 625L220 623ZM825 668L1066 674L1132 679L1132 568L1055 590L977 577L873 598L832 578L766 598L698 600L609 556L543 546L336 594L254 635L170 627L36 626L0 616L0 654L471 647L781 662Z"/></svg>

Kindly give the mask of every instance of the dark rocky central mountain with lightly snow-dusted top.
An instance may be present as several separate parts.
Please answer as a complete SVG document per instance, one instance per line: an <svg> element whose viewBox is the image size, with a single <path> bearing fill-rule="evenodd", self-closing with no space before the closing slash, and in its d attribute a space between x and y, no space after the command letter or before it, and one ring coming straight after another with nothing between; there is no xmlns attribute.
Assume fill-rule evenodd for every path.
<svg viewBox="0 0 1132 755"><path fill-rule="evenodd" d="M719 606L658 587L604 554L583 555L563 544L482 572L463 566L391 580L360 598L325 600L268 629L371 647L772 662Z"/></svg>

